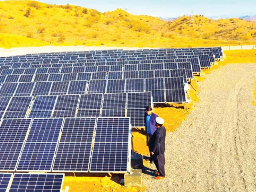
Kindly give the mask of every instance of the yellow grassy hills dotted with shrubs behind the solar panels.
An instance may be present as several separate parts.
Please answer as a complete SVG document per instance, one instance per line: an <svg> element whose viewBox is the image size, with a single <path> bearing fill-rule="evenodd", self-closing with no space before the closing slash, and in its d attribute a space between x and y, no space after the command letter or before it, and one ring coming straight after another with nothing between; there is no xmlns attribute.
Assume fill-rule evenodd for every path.
<svg viewBox="0 0 256 192"><path fill-rule="evenodd" d="M75 5L27 0L0 1L0 33L31 33L31 38L53 45L195 47L256 43L252 22L239 19L210 20L195 15L167 22L157 17L135 16L122 9L101 13ZM35 43L5 44L0 40L0 44L8 48Z"/></svg>

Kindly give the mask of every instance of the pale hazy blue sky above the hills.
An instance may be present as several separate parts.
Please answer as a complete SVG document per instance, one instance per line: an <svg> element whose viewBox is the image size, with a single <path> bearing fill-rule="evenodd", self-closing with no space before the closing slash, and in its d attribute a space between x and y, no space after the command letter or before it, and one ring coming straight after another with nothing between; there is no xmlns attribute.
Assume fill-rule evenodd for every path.
<svg viewBox="0 0 256 192"><path fill-rule="evenodd" d="M38 0L49 4L76 4L96 9L100 12L113 11L116 8L127 9L135 15L158 17L179 17L184 14L204 16L241 16L256 14L256 0Z"/></svg>

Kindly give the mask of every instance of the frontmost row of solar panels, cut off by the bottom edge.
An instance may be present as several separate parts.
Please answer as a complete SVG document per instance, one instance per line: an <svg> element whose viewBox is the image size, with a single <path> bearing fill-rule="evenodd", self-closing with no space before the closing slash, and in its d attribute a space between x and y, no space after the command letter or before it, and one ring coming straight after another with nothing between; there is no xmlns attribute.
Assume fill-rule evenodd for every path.
<svg viewBox="0 0 256 192"><path fill-rule="evenodd" d="M60 192L64 174L1 173L0 192Z"/></svg>

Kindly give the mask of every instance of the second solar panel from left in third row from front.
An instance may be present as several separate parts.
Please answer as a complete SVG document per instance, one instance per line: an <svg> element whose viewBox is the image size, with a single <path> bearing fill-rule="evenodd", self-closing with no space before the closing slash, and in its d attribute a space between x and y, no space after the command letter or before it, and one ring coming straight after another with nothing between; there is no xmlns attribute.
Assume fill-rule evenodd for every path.
<svg viewBox="0 0 256 192"><path fill-rule="evenodd" d="M32 97L12 97L4 118L25 118Z"/></svg>

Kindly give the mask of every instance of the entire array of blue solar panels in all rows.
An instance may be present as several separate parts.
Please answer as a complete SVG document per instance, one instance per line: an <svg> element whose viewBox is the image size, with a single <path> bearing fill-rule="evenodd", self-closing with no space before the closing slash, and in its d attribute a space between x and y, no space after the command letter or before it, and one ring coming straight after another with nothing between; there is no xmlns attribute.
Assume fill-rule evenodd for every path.
<svg viewBox="0 0 256 192"><path fill-rule="evenodd" d="M221 56L211 47L0 57L0 171L129 172L145 107L187 102L187 80ZM0 173L0 190L60 191L63 177Z"/></svg>

